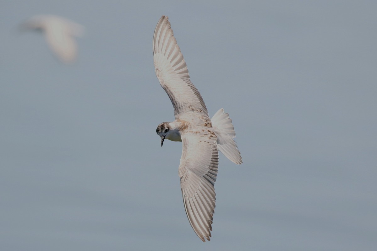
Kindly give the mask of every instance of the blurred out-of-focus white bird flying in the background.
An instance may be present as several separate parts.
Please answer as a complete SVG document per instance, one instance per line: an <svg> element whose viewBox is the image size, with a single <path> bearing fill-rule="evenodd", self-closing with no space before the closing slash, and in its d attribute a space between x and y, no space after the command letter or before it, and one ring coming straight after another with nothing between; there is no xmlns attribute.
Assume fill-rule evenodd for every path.
<svg viewBox="0 0 377 251"><path fill-rule="evenodd" d="M36 15L21 24L21 30L40 30L55 55L64 63L75 61L77 43L74 37L81 37L84 27L66 18L55 15Z"/></svg>

